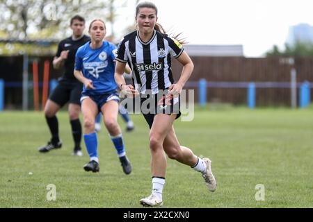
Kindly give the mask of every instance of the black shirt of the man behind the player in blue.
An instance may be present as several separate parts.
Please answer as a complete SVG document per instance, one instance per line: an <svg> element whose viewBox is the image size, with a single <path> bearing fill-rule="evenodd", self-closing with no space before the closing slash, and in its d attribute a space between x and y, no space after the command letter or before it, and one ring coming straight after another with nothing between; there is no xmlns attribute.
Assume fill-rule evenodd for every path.
<svg viewBox="0 0 313 222"><path fill-rule="evenodd" d="M65 73L63 75L63 79L77 80L77 78L75 78L74 76L75 55L77 49L88 41L90 41L90 37L88 37L87 35L83 35L83 37L81 37L79 40L72 40L71 36L62 40L58 44L58 51L56 52L56 57L60 57L62 51L69 50L67 60L64 61Z"/></svg>

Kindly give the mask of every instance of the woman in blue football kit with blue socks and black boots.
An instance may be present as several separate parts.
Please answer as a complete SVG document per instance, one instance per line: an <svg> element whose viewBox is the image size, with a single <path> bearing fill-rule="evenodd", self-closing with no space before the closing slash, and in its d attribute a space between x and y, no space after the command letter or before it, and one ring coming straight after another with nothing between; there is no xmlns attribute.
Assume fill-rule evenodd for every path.
<svg viewBox="0 0 313 222"><path fill-rule="evenodd" d="M125 153L122 131L118 125L117 85L114 80L116 47L104 41L106 26L101 19L90 23L91 41L81 46L75 58L74 76L83 83L81 112L83 113L83 139L90 162L83 169L99 171L95 117L102 112L104 125L120 158L124 173L131 173L131 164Z"/></svg>

